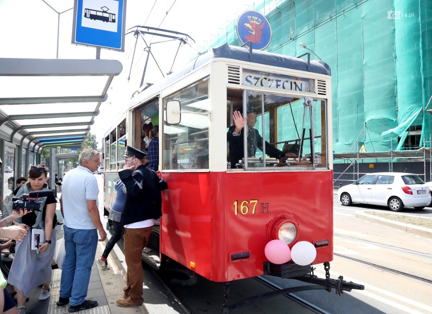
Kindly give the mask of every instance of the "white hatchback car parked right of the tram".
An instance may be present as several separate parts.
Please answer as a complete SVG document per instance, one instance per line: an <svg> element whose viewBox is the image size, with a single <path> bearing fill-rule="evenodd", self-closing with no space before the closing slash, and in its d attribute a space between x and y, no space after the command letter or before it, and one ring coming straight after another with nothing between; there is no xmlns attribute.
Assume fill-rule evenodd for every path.
<svg viewBox="0 0 432 314"><path fill-rule="evenodd" d="M431 201L429 186L413 173L377 172L343 186L338 191L342 205L363 203L388 206L400 212L404 206L422 210Z"/></svg>

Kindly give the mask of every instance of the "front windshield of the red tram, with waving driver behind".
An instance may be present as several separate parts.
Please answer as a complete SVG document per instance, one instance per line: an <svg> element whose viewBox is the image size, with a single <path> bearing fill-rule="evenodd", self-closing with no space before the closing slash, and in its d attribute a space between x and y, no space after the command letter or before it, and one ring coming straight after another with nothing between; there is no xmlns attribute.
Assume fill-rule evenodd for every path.
<svg viewBox="0 0 432 314"><path fill-rule="evenodd" d="M234 111L246 117L240 137ZM228 90L227 168L327 167L326 125L325 100Z"/></svg>

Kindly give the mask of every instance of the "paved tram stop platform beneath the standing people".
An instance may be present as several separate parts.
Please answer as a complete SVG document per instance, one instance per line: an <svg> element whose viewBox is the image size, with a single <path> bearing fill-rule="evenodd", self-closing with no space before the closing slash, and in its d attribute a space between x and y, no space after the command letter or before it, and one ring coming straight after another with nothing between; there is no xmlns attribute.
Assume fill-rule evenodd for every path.
<svg viewBox="0 0 432 314"><path fill-rule="evenodd" d="M60 193L59 193L60 194ZM59 197L60 195L58 195ZM60 212L60 203L57 203L56 214L58 220L62 221ZM99 209L102 224L105 225L106 218ZM63 237L63 225L56 227L57 239ZM116 300L123 298L123 288L126 286L126 261L124 254L118 245L114 246L108 257L109 270L102 270L97 264L96 258L100 257L105 249L106 242L110 239L111 234L107 233L107 238L103 242L98 242L96 248L95 262L92 266L90 275L90 284L86 299L95 300L98 306L79 311L78 313L86 314L176 314L178 305L166 296L164 287L159 286L159 281L155 279L152 271L144 271L143 278L143 298L144 304L139 307L120 307ZM122 240L120 240L122 241ZM120 243L120 242L119 242ZM27 314L65 314L69 313L67 308L59 307L56 302L60 296L61 269L53 270L51 282L51 297L45 301L39 301L38 297L41 289L34 289L30 293L30 300L26 303ZM49 304L47 304L49 302Z"/></svg>

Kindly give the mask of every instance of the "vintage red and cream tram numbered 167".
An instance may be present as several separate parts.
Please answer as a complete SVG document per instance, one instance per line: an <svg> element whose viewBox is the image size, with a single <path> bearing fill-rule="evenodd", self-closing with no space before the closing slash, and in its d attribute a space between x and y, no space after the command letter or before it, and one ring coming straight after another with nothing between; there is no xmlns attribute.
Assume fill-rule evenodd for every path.
<svg viewBox="0 0 432 314"><path fill-rule="evenodd" d="M105 208L114 200L125 141L140 148L142 125L153 121L159 124L158 173L168 190L154 231L159 259L143 252L145 259L158 266L172 259L214 282L263 274L299 278L312 265L328 265L331 91L330 68L322 61L228 45L198 56L135 95L105 135ZM240 150L226 135L234 111L246 121L235 134ZM235 151L241 156L233 161Z"/></svg>

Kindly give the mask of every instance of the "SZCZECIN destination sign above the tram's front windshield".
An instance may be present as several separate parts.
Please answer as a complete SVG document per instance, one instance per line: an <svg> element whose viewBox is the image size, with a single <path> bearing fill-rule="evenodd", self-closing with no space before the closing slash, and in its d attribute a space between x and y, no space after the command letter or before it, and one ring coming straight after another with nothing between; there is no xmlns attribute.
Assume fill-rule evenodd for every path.
<svg viewBox="0 0 432 314"><path fill-rule="evenodd" d="M314 80L243 69L242 84L298 92L314 92Z"/></svg>

